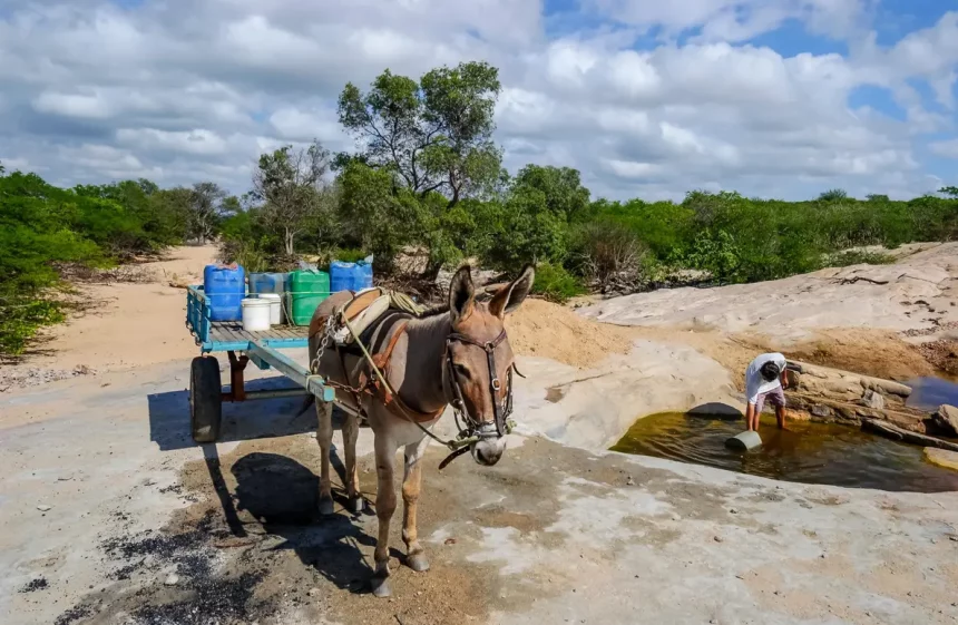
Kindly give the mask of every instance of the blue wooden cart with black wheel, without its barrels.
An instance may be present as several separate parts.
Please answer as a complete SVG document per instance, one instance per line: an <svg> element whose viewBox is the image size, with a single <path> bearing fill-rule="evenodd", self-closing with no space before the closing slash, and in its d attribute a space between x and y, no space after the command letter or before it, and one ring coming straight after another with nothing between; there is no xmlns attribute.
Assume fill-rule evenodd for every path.
<svg viewBox="0 0 958 625"><path fill-rule="evenodd" d="M203 286L189 286L186 293L186 328L199 346L193 359L189 383L190 430L196 442L215 442L223 420L223 401L246 401L314 394L333 401L335 392L324 380L278 350L309 345L305 328L276 326L266 332L246 332L238 322L211 320ZM229 359L229 387L224 389L219 362L213 352L226 352ZM299 388L247 391L244 371L252 361L262 370L276 369Z"/></svg>

